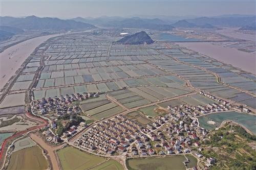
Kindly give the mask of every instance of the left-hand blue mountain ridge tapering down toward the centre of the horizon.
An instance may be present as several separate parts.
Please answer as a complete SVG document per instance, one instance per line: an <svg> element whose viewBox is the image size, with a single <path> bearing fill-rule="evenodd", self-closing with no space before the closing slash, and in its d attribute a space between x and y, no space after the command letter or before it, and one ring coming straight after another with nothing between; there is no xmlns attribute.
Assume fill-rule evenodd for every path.
<svg viewBox="0 0 256 170"><path fill-rule="evenodd" d="M95 26L74 20L62 20L50 17L27 16L25 18L1 17L2 26L10 26L23 30L71 30L93 29Z"/></svg>

